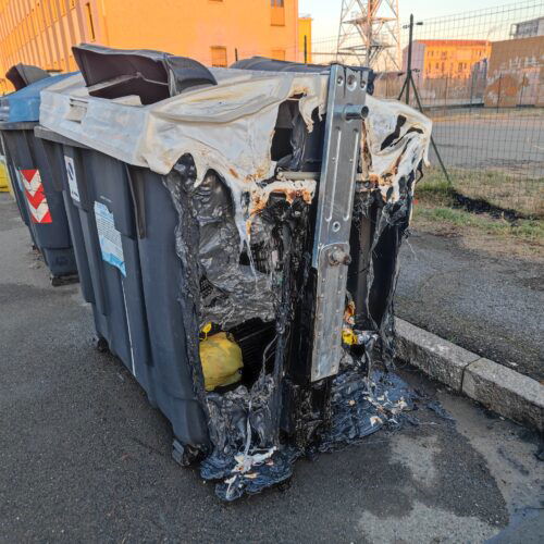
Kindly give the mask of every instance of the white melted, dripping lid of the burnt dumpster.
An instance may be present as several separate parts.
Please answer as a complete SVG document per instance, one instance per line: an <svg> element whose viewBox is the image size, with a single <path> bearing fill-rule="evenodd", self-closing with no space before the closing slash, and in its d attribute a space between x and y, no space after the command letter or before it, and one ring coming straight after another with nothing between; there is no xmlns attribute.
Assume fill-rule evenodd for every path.
<svg viewBox="0 0 544 544"><path fill-rule="evenodd" d="M311 131L314 115L326 112L329 75L236 69L210 72L218 85L189 89L149 106L84 98L74 86L45 89L40 124L159 174L168 174L188 153L197 183L208 171L218 172L233 191L233 200L242 201L244 191L274 176L271 144L280 106L296 102ZM367 95L367 107L363 176L378 184L384 196L393 193L395 200L398 184L413 170L413 163L422 158L426 162L432 123L396 100Z"/></svg>

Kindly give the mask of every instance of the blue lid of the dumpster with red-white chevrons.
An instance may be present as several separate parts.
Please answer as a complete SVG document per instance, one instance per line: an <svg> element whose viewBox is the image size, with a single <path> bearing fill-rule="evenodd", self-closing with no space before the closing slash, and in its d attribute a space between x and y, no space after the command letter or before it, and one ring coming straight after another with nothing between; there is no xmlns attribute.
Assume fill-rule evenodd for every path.
<svg viewBox="0 0 544 544"><path fill-rule="evenodd" d="M0 98L0 121L9 123L37 122L41 90L74 74L75 72L45 77Z"/></svg>

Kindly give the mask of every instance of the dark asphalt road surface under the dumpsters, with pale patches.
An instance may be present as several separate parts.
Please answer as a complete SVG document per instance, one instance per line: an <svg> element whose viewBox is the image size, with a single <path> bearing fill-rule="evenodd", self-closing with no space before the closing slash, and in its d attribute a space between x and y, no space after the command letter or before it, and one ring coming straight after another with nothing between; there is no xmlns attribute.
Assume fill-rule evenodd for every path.
<svg viewBox="0 0 544 544"><path fill-rule="evenodd" d="M0 195L0 542L540 542L537 436L405 379L454 418L300 460L290 487L225 505L171 458L172 431L92 344L77 285L52 287Z"/></svg>

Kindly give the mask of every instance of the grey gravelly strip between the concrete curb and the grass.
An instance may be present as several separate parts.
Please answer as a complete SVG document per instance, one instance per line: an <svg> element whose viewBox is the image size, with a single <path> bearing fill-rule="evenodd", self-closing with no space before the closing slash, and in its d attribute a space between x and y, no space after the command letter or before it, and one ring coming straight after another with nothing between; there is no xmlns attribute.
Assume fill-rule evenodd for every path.
<svg viewBox="0 0 544 544"><path fill-rule="evenodd" d="M455 344L544 380L542 264L416 232L400 250L396 312Z"/></svg>

